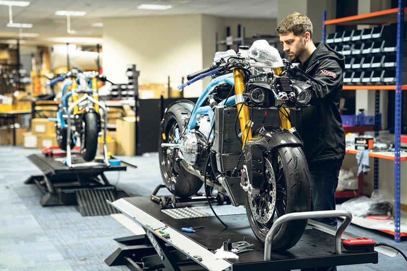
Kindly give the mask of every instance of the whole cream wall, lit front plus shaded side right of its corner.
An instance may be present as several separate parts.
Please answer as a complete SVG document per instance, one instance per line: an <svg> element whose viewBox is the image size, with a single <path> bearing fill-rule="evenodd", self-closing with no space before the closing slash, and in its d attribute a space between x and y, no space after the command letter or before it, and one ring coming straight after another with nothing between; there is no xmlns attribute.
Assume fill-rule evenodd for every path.
<svg viewBox="0 0 407 271"><path fill-rule="evenodd" d="M120 17L103 19L103 73L113 82L125 83L127 64L136 64L139 84L166 83L171 87L181 77L207 67L215 54L215 33L224 40L226 26L237 36L237 25L246 28L246 36L274 33L276 20L221 18L209 15ZM224 50L220 47L219 50ZM209 78L184 90L197 97Z"/></svg>

